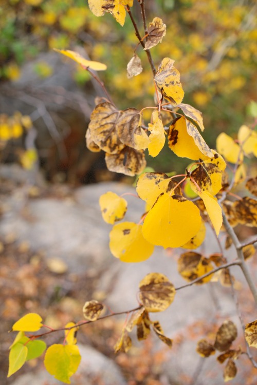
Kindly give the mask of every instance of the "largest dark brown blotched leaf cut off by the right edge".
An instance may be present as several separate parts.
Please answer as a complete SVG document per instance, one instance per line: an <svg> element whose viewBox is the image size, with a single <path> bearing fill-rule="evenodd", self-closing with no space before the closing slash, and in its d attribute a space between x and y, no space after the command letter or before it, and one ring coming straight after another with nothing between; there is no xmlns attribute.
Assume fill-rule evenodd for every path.
<svg viewBox="0 0 257 385"><path fill-rule="evenodd" d="M257 226L257 200L244 197L233 203L236 219L239 223L249 227Z"/></svg>

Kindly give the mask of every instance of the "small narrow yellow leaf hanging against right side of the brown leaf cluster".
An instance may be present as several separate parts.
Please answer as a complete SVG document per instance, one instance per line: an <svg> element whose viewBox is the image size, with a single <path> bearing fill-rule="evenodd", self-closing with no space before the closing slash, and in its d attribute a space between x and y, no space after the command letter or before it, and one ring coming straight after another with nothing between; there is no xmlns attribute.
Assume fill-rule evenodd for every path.
<svg viewBox="0 0 257 385"><path fill-rule="evenodd" d="M148 145L149 155L156 157L165 143L165 130L161 119L159 118L159 112L154 111L152 114L152 122L148 125L148 130L151 131Z"/></svg>

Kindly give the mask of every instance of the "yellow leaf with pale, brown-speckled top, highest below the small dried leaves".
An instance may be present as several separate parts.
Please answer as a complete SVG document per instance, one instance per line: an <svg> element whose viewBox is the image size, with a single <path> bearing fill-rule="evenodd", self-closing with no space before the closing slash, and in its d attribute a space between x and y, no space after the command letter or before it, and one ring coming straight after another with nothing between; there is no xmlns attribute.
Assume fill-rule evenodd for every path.
<svg viewBox="0 0 257 385"><path fill-rule="evenodd" d="M184 91L180 83L180 73L173 67L174 60L164 57L155 75L155 83L163 97L171 104L177 105L182 102Z"/></svg>

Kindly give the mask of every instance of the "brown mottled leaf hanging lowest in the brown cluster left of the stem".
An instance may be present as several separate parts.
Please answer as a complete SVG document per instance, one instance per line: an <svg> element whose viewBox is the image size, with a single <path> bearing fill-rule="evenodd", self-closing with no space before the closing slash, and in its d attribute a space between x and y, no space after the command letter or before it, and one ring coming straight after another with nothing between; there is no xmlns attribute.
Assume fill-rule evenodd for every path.
<svg viewBox="0 0 257 385"><path fill-rule="evenodd" d="M125 146L118 153L106 153L105 162L108 170L134 177L146 167L144 152Z"/></svg>

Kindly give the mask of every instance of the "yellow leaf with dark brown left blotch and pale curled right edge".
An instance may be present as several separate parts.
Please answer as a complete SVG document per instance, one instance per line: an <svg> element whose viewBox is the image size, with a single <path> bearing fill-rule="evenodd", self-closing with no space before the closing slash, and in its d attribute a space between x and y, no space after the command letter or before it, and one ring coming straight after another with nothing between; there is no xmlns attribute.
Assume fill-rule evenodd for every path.
<svg viewBox="0 0 257 385"><path fill-rule="evenodd" d="M197 128L185 117L177 118L170 126L169 147L178 157L193 160L213 158L214 155Z"/></svg>

